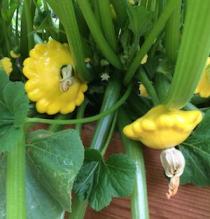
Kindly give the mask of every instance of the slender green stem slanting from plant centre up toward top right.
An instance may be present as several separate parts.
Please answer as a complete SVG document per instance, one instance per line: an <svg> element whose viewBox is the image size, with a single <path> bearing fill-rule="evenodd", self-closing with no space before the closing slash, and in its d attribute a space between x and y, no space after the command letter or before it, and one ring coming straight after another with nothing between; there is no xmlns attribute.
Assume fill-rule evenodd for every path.
<svg viewBox="0 0 210 219"><path fill-rule="evenodd" d="M136 57L133 59L133 62L129 66L127 74L125 75L125 78L124 78L124 84L127 85L132 80L136 70L141 64L142 59L147 54L151 46L154 44L158 35L163 30L168 18L172 14L173 10L177 7L178 3L179 3L179 0L168 1L162 14L160 15L160 17L154 24L152 31L149 33L149 35L145 39L145 42L143 43L141 49L137 52Z"/></svg>

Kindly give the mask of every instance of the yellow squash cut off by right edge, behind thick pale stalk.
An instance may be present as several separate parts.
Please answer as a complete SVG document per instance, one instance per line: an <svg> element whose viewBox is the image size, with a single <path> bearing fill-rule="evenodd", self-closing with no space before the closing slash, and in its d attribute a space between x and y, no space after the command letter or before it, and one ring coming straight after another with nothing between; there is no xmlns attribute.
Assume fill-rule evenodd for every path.
<svg viewBox="0 0 210 219"><path fill-rule="evenodd" d="M195 93L204 98L210 96L210 58L207 60L206 67L203 71L201 80L195 90Z"/></svg>

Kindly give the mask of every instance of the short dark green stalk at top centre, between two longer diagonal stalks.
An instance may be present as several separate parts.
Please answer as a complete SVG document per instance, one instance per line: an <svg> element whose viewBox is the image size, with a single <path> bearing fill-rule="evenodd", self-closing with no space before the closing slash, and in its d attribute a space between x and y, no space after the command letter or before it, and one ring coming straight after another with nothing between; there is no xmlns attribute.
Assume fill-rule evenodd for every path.
<svg viewBox="0 0 210 219"><path fill-rule="evenodd" d="M112 13L109 0L98 1L98 8L101 17L101 25L107 42L114 51L117 50L117 39L114 25L112 22Z"/></svg>

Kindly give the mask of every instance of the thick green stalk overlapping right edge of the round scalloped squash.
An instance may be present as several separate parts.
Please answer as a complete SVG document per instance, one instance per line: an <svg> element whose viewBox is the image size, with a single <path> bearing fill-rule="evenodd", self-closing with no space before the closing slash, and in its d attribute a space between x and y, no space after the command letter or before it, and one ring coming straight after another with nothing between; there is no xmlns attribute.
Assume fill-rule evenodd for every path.
<svg viewBox="0 0 210 219"><path fill-rule="evenodd" d="M57 14L64 26L79 78L83 81L92 80L93 74L88 71L85 65L86 57L82 46L83 42L79 32L73 0L46 1Z"/></svg>

